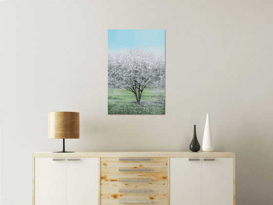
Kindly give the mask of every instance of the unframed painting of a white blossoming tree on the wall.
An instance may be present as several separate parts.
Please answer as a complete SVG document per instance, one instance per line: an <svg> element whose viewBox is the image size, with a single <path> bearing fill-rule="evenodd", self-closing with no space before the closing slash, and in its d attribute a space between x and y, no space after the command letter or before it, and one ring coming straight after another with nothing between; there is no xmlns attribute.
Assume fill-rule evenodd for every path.
<svg viewBox="0 0 273 205"><path fill-rule="evenodd" d="M165 114L165 30L108 30L108 114Z"/></svg>

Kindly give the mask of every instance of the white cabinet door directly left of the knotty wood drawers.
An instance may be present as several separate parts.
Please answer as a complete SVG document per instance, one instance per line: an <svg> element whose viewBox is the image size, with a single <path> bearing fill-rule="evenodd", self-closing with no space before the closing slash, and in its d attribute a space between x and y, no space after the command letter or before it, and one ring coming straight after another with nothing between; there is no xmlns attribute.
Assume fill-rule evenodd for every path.
<svg viewBox="0 0 273 205"><path fill-rule="evenodd" d="M98 205L98 158L67 158L67 204Z"/></svg>

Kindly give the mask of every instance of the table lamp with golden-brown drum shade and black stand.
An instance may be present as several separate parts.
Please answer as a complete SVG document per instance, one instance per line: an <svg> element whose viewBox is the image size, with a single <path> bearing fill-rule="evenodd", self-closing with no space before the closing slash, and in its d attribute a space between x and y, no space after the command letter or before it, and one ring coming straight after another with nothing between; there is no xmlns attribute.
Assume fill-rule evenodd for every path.
<svg viewBox="0 0 273 205"><path fill-rule="evenodd" d="M48 139L79 139L79 113L78 112L49 112L48 113Z"/></svg>

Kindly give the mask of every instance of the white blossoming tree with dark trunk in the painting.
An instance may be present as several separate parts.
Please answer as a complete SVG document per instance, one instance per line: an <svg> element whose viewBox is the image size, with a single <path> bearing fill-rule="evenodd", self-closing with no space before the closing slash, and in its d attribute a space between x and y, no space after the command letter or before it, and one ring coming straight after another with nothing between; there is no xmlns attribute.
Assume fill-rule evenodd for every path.
<svg viewBox="0 0 273 205"><path fill-rule="evenodd" d="M165 87L165 56L140 47L108 55L108 86L128 90L140 102L145 88Z"/></svg>

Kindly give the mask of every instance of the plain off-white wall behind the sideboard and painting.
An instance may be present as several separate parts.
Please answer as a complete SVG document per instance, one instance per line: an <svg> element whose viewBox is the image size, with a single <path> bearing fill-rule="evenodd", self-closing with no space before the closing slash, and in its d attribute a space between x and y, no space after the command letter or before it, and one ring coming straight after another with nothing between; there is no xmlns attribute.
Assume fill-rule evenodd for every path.
<svg viewBox="0 0 273 205"><path fill-rule="evenodd" d="M30 205L48 112L80 112L71 151L189 151L210 113L236 153L238 205L273 201L273 1L1 1L1 205ZM107 115L107 29L166 29L166 114Z"/></svg>

